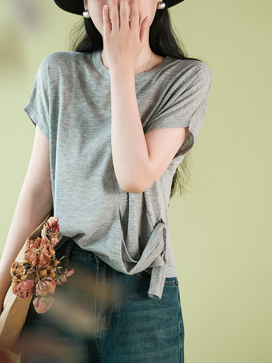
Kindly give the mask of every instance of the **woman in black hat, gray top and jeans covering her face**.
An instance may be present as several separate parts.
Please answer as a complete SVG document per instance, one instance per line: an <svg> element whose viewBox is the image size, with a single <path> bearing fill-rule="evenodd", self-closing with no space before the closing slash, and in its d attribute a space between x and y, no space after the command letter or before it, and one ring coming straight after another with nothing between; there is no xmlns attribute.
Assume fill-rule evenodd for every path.
<svg viewBox="0 0 272 363"><path fill-rule="evenodd" d="M56 256L75 273L48 312L30 303L21 362L184 362L168 202L210 70L171 33L167 8L183 0L54 1L83 15L86 33L37 72L24 108L38 126L24 182L33 202L20 206L35 196L37 225L54 205Z"/></svg>

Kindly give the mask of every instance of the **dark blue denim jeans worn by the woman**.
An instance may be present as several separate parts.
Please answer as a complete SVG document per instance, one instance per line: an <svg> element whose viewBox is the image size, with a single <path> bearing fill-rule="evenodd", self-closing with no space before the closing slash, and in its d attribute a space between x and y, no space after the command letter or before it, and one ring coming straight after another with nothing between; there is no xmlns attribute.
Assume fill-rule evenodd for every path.
<svg viewBox="0 0 272 363"><path fill-rule="evenodd" d="M148 297L150 274L126 275L68 239L55 252L61 271L54 303L38 314L33 295L21 340L21 363L184 363L177 277L161 299Z"/></svg>

